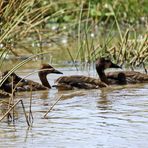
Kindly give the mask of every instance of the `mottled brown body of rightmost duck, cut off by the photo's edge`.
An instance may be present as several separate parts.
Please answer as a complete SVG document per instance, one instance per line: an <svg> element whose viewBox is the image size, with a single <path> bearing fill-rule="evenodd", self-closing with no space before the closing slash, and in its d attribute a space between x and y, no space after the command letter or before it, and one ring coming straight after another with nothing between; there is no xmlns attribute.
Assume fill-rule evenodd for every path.
<svg viewBox="0 0 148 148"><path fill-rule="evenodd" d="M106 76L108 79L112 80L118 80L119 76L123 76L123 84L148 83L147 74L135 71L109 72Z"/></svg>

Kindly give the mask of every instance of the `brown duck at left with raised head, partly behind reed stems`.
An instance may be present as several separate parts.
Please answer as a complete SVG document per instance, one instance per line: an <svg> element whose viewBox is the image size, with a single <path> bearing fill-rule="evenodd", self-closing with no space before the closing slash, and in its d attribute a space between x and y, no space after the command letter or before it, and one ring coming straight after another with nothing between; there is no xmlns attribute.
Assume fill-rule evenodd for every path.
<svg viewBox="0 0 148 148"><path fill-rule="evenodd" d="M42 64L40 71L38 72L42 84L34 82L32 80L22 79L15 73L12 73L3 83L1 88L4 89L6 92L11 92L12 85L13 88L16 87L16 91L30 91L30 90L36 91L36 90L50 89L51 86L47 80L47 75L50 73L62 74L62 72L54 69L49 64ZM8 74L8 71L4 72L3 76L5 76L6 74Z"/></svg>

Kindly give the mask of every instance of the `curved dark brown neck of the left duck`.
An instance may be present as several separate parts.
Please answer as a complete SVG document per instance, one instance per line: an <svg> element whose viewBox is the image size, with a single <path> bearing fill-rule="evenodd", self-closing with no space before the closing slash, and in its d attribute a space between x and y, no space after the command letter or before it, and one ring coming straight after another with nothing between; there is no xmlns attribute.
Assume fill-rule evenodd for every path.
<svg viewBox="0 0 148 148"><path fill-rule="evenodd" d="M40 71L39 72L39 78L41 80L42 85L44 85L45 87L51 88L48 80L47 80L47 74L45 74L44 72Z"/></svg>

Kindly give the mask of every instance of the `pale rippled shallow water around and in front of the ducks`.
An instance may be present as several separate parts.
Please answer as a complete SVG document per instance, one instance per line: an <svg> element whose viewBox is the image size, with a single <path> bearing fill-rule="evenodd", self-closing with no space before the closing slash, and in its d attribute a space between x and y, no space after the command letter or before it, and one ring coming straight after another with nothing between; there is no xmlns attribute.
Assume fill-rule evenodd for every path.
<svg viewBox="0 0 148 148"><path fill-rule="evenodd" d="M64 75L94 75L94 71L59 68ZM20 71L25 75L32 70ZM59 75L50 75L51 84ZM37 74L29 77L39 81ZM148 145L148 84L101 90L38 91L32 94L33 125L28 128L21 105L15 123L0 123L0 147L146 148ZM50 106L64 97L43 119ZM29 110L30 93L18 93ZM1 106L2 108L3 106Z"/></svg>

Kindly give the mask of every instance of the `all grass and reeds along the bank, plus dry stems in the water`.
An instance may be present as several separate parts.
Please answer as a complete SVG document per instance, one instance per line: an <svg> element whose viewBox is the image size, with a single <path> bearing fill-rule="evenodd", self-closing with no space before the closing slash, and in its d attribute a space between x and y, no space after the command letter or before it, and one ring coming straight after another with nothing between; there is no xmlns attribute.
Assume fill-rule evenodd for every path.
<svg viewBox="0 0 148 148"><path fill-rule="evenodd" d="M0 86L12 72L38 56L50 53L44 43L51 48L64 50L73 62L91 63L98 57L110 57L125 67L134 69L143 67L147 72L148 64L148 30L147 2L141 0L126 1L35 1L35 0L1 0L0 1L0 67L6 57L29 54L28 58L12 65L10 72L0 81ZM58 26L54 31L54 23ZM146 28L142 34L137 26ZM66 26L66 29L63 29ZM96 29L98 27L98 29ZM139 27L140 28L140 27ZM138 28L138 29L139 29ZM63 36L68 37L68 44L59 42ZM139 38L139 35L141 38ZM36 45L32 47L32 45ZM72 45L72 46L71 46ZM54 48L54 49L55 49ZM65 57L65 55L62 55ZM59 55L58 55L59 57ZM65 59L67 60L67 59ZM28 75L27 75L28 76ZM26 76L26 77L27 77ZM32 93L32 92L31 92ZM31 97L32 99L32 94ZM33 122L30 99L27 116L22 100L9 105L6 116L14 119L14 107L21 103L27 125ZM61 99L58 98L55 104ZM54 105L46 112L46 115ZM12 113L12 116L10 114Z"/></svg>

